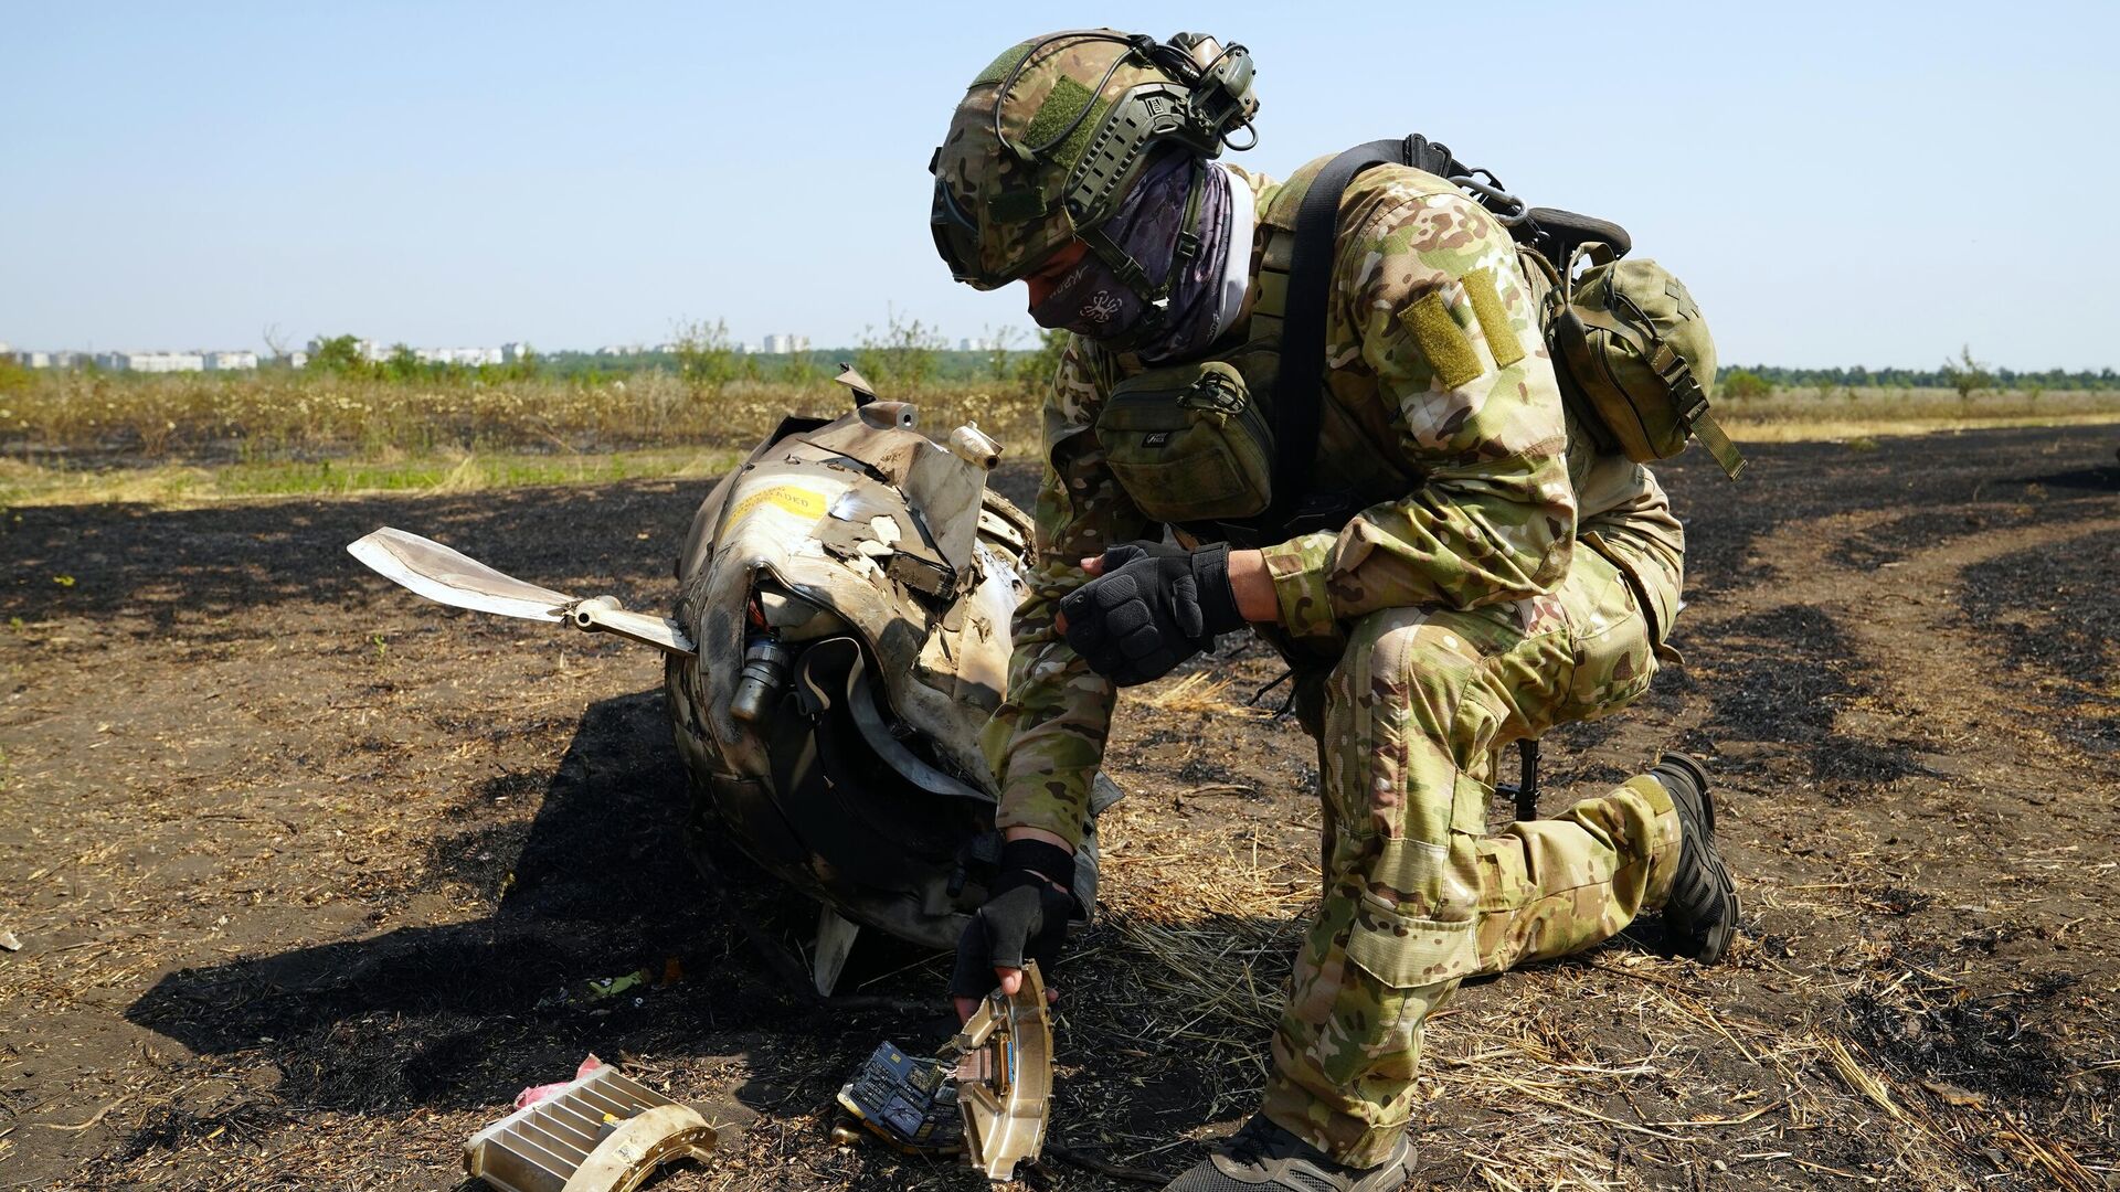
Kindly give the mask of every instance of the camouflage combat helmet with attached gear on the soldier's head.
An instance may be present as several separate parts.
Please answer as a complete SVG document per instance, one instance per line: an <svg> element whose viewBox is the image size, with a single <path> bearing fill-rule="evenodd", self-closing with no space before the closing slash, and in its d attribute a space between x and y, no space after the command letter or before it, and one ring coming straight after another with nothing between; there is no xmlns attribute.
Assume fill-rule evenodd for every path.
<svg viewBox="0 0 2120 1192"><path fill-rule="evenodd" d="M1005 286L1111 218L1151 146L1217 157L1257 108L1251 55L1204 34L1020 42L971 81L929 161L935 250L956 280Z"/></svg>

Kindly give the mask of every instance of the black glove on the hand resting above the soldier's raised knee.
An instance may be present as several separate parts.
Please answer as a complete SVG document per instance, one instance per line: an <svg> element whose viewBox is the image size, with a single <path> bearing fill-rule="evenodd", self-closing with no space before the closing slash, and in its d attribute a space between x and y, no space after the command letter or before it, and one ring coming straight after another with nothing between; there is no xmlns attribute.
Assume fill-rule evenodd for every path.
<svg viewBox="0 0 2120 1192"><path fill-rule="evenodd" d="M1060 600L1066 643L1090 670L1119 687L1162 679L1215 649L1215 634L1244 628L1230 588L1230 547L1189 551L1121 543L1105 551L1105 575Z"/></svg>

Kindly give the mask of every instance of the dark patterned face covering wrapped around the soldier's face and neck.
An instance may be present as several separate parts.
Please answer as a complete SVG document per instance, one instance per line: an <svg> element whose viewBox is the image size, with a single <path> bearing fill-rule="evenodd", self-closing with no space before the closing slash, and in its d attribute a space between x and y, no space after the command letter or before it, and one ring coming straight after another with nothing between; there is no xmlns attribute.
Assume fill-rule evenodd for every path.
<svg viewBox="0 0 2120 1192"><path fill-rule="evenodd" d="M1200 248L1177 261L1191 189L1200 187ZM1206 348L1221 325L1223 267L1230 257L1230 176L1187 153L1153 161L1113 216L1098 227L1147 274L1145 291L1170 278L1170 293L1151 305L1143 288L1119 278L1098 246L1068 269L1045 301L1030 308L1039 327L1060 327L1115 352L1147 361L1181 358ZM1172 261L1177 276L1172 278Z"/></svg>

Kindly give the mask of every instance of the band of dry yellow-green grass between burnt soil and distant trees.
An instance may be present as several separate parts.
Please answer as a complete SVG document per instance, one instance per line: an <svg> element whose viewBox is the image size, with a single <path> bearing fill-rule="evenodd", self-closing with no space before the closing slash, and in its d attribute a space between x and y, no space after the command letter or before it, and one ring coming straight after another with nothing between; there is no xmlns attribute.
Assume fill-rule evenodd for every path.
<svg viewBox="0 0 2120 1192"><path fill-rule="evenodd" d="M837 416L831 382L386 382L331 373L21 371L0 390L0 503L477 490L689 475L789 414ZM1022 458L1039 401L1020 386L937 382L903 397L929 431L977 420ZM1868 439L1976 426L2120 422L2120 392L1779 390L1717 405L1741 441ZM475 460L475 462L473 462ZM1174 696L1185 698L1185 696ZM1223 700L1225 702L1225 700ZM1227 702L1225 702L1227 704Z"/></svg>

